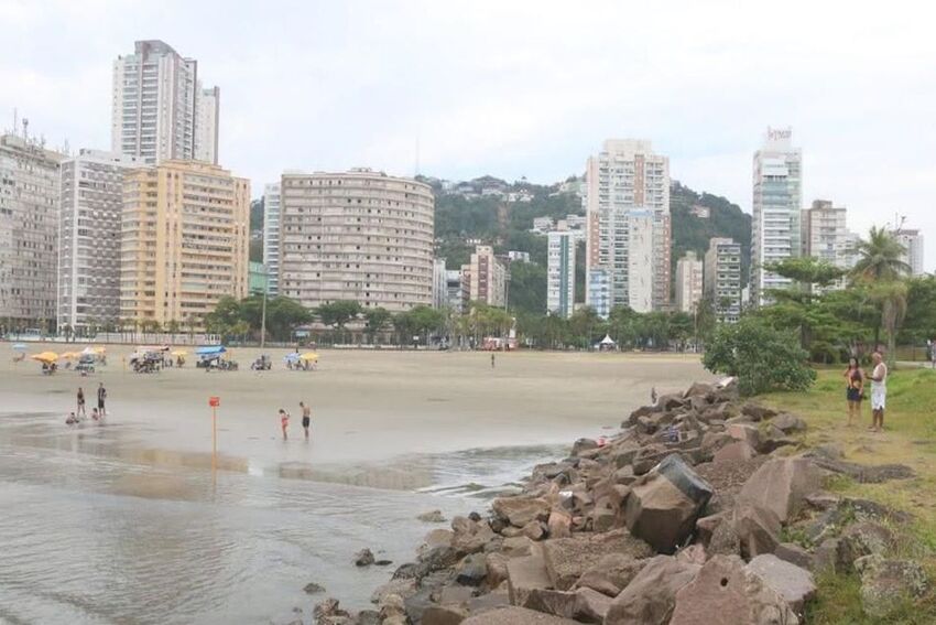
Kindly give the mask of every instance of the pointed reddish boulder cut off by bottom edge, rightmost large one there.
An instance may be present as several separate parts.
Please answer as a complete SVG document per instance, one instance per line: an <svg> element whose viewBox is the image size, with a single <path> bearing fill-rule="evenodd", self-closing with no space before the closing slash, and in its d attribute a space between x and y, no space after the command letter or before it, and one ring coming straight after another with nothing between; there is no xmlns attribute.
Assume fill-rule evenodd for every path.
<svg viewBox="0 0 936 625"><path fill-rule="evenodd" d="M676 593L670 625L795 625L783 597L737 556L715 556Z"/></svg>

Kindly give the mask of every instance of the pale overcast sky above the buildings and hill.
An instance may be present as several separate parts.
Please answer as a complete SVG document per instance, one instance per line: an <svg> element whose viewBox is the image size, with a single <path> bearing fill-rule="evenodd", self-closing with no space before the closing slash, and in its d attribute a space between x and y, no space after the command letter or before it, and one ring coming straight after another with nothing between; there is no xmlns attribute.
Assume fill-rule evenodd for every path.
<svg viewBox="0 0 936 625"><path fill-rule="evenodd" d="M804 204L905 217L936 270L936 8L925 2L0 0L0 129L109 149L112 61L161 39L221 89L219 161L551 183L608 138L751 209L752 155L793 128Z"/></svg>

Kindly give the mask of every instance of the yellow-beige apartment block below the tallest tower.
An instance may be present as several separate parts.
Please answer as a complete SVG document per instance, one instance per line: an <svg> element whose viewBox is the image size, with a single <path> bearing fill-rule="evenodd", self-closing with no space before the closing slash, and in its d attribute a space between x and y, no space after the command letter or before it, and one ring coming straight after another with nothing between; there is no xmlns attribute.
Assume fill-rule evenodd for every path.
<svg viewBox="0 0 936 625"><path fill-rule="evenodd" d="M199 161L132 170L123 185L120 317L202 327L248 292L250 182Z"/></svg>

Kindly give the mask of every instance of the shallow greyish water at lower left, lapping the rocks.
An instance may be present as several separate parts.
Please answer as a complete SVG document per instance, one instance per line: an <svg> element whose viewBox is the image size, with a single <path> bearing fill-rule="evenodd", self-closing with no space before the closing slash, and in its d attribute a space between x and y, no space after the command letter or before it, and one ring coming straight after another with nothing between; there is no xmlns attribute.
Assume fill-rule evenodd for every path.
<svg viewBox="0 0 936 625"><path fill-rule="evenodd" d="M308 582L351 607L434 526L482 509L562 448L262 464L145 449L145 432L0 414L0 622L311 622ZM358 569L371 548L382 569ZM294 613L301 608L302 613Z"/></svg>

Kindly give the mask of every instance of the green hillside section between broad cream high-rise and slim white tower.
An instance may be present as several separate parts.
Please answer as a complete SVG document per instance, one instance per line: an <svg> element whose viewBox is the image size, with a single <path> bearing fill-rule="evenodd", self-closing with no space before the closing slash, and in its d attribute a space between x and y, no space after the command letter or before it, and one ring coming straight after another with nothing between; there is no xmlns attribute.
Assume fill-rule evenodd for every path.
<svg viewBox="0 0 936 625"><path fill-rule="evenodd" d="M709 209L708 218L693 215L693 206ZM751 216L725 197L696 193L678 182L670 191L670 215L673 228L673 271L676 260L688 250L705 257L711 237L730 237L741 244L741 280L748 281L751 267Z"/></svg>

